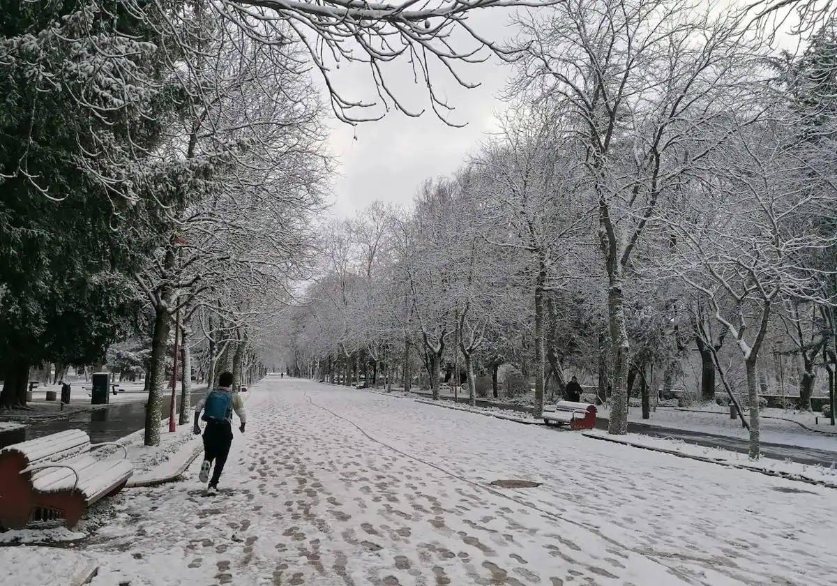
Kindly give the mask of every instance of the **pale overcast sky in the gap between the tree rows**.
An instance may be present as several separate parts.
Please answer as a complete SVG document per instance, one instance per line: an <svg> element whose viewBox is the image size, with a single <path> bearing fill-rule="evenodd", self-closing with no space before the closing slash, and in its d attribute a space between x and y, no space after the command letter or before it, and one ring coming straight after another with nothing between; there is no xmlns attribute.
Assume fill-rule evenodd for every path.
<svg viewBox="0 0 837 586"><path fill-rule="evenodd" d="M489 10L475 15L470 22L490 39L506 39L509 14L505 10ZM355 65L346 69L351 77L341 81L341 89L354 96L369 96L368 69ZM455 107L451 119L467 123L453 128L440 121L429 110L424 88L413 85L408 64L393 64L388 82L411 99L416 109L428 110L419 118L390 111L382 121L364 122L353 128L332 118L331 152L340 163L339 177L334 184L333 213L352 216L376 199L383 202L408 203L425 178L449 174L460 166L469 152L478 146L486 132L494 131L494 113L505 105L497 99L511 73L508 64L492 58L483 64L464 64L460 72L470 82L482 85L473 90L460 87L449 75L438 71L435 87L442 90L449 104ZM357 133L357 140L353 136Z"/></svg>

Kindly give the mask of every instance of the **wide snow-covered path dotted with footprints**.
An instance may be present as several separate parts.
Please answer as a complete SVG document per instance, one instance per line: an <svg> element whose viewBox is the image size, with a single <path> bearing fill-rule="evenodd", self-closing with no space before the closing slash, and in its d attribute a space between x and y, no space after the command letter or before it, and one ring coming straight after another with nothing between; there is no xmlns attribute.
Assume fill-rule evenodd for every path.
<svg viewBox="0 0 837 586"><path fill-rule="evenodd" d="M92 511L95 586L837 583L837 491L294 379L247 409L221 495Z"/></svg>

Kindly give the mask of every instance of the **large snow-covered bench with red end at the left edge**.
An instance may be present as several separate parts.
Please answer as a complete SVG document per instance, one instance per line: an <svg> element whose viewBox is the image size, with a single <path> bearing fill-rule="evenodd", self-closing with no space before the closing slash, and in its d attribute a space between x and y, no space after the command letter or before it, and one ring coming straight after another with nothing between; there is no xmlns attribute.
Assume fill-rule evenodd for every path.
<svg viewBox="0 0 837 586"><path fill-rule="evenodd" d="M104 445L117 445L124 457L91 455ZM0 527L57 519L72 527L88 506L121 491L132 474L125 446L91 445L80 429L9 445L0 450Z"/></svg>

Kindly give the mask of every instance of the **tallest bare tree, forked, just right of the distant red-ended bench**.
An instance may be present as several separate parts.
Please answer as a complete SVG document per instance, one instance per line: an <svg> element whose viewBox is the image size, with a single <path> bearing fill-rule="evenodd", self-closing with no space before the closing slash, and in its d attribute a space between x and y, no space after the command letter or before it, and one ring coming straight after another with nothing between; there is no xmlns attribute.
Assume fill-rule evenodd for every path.
<svg viewBox="0 0 837 586"><path fill-rule="evenodd" d="M680 0L570 0L518 22L523 57L511 90L573 111L576 156L597 202L614 351L608 431L624 434L626 273L660 203L726 140L752 51L734 18Z"/></svg>

